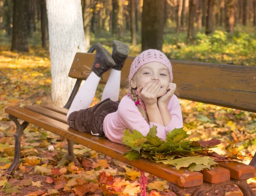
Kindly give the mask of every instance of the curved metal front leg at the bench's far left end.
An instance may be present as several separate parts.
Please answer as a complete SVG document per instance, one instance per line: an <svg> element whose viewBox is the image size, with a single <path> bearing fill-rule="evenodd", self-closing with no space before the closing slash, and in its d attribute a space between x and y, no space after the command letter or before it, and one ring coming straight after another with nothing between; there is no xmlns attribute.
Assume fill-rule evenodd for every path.
<svg viewBox="0 0 256 196"><path fill-rule="evenodd" d="M14 138L15 138L14 160L12 161L12 164L7 170L12 172L13 170L16 169L17 165L20 162L20 138L21 138L21 135L23 134L23 130L26 129L29 123L24 121L22 124L20 124L17 118L12 115L9 115L9 118L15 122L16 128L17 128L16 133L14 134Z"/></svg>

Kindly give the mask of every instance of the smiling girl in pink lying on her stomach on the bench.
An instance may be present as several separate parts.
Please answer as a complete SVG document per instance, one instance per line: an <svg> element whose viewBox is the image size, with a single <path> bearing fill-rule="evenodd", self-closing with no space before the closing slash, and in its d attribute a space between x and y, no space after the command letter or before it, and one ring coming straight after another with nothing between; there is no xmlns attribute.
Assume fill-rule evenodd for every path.
<svg viewBox="0 0 256 196"><path fill-rule="evenodd" d="M153 125L157 136L165 140L166 134L183 127L179 101L174 95L172 66L163 52L149 49L138 55L131 64L128 95L119 97L121 69L128 57L128 45L113 41L113 54L99 43L92 72L79 89L67 113L67 123L74 129L106 137L123 144L124 131L138 130L144 136ZM102 74L111 69L102 94L102 101L90 104Z"/></svg>

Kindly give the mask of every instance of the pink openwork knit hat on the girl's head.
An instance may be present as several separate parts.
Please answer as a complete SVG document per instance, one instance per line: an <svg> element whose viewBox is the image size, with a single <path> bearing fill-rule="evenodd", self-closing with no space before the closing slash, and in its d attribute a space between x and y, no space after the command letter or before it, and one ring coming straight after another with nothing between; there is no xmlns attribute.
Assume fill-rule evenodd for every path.
<svg viewBox="0 0 256 196"><path fill-rule="evenodd" d="M134 74L140 69L141 66L145 65L146 63L151 63L151 62L158 62L162 63L165 65L170 74L170 80L172 82L172 65L169 59L166 57L163 52L160 50L156 49L148 49L140 53L134 61L131 63L131 69L130 69L130 74L129 74L129 82L131 83L131 79L134 76Z"/></svg>

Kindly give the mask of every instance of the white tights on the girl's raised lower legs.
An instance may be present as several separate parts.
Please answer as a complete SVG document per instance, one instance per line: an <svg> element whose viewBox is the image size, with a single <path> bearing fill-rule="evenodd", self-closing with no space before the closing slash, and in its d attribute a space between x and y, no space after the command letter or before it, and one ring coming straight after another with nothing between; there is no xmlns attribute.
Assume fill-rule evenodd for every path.
<svg viewBox="0 0 256 196"><path fill-rule="evenodd" d="M120 89L121 71L111 69L110 76L107 84L102 93L102 101L106 98L110 98L112 101L118 101L119 89ZM97 86L100 78L94 72L91 72L84 84L77 92L69 111L67 112L67 118L70 113L86 109L93 102L93 98L96 93Z"/></svg>

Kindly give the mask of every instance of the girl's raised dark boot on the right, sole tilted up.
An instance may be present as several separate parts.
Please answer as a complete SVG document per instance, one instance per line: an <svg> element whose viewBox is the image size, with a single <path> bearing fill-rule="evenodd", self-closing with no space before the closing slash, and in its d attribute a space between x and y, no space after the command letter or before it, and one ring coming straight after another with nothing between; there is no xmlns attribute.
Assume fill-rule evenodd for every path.
<svg viewBox="0 0 256 196"><path fill-rule="evenodd" d="M116 62L116 66L113 66L113 69L121 70L128 55L129 46L121 41L113 40L112 58Z"/></svg>

